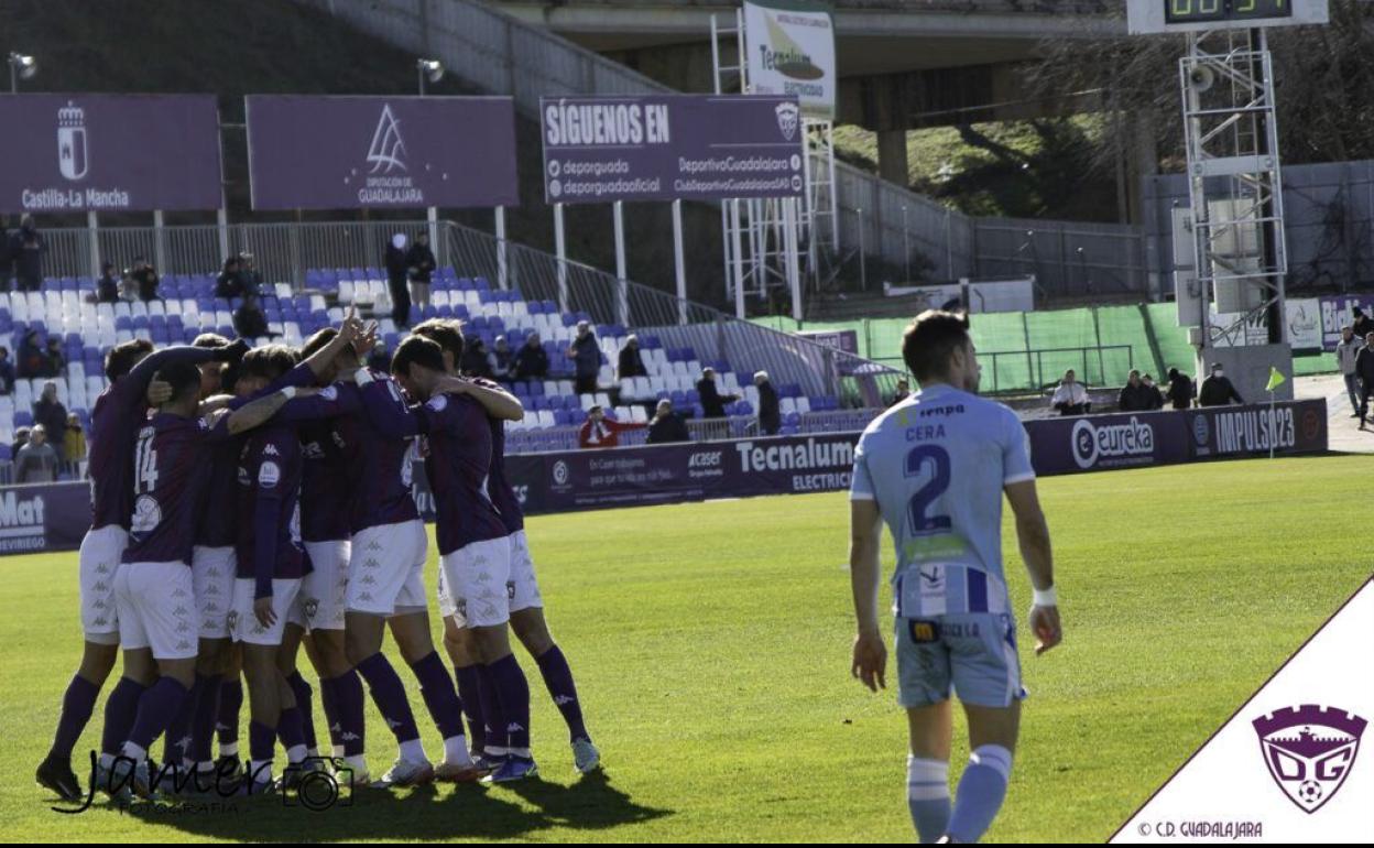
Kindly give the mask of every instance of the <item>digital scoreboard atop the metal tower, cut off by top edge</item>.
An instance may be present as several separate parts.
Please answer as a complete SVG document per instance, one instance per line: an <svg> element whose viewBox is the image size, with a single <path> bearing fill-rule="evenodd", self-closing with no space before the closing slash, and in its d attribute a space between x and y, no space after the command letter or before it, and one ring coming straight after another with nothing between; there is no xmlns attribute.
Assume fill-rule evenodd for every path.
<svg viewBox="0 0 1374 848"><path fill-rule="evenodd" d="M1127 0L1132 36L1326 23L1327 0Z"/></svg>

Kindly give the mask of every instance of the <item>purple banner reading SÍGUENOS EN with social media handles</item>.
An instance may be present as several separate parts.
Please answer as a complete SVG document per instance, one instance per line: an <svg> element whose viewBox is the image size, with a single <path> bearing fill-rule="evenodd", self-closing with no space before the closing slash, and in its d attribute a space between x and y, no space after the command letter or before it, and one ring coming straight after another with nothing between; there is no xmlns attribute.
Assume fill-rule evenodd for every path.
<svg viewBox="0 0 1374 848"><path fill-rule="evenodd" d="M800 198L797 98L543 98L550 203Z"/></svg>

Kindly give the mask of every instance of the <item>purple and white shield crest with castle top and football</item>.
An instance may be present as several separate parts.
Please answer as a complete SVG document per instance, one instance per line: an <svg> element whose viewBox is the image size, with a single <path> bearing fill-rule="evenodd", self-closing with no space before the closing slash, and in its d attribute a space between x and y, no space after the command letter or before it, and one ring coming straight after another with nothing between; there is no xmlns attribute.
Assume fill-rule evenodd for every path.
<svg viewBox="0 0 1374 848"><path fill-rule="evenodd" d="M1252 724L1274 782L1300 810L1316 812L1355 767L1367 722L1344 709L1304 704Z"/></svg>

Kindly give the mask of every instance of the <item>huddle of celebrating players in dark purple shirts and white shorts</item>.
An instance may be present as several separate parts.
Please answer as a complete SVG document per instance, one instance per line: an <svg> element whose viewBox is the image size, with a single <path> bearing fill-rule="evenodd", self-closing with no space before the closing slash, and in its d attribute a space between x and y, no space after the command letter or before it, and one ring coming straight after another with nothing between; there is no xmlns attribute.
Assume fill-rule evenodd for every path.
<svg viewBox="0 0 1374 848"><path fill-rule="evenodd" d="M567 722L577 770L599 767L504 474L504 422L523 415L519 401L458 375L458 322L418 324L390 374L361 366L375 342L375 324L349 313L298 352L214 334L109 352L110 385L92 415L93 520L80 553L85 649L37 770L41 786L84 797L71 755L121 647L92 790L150 799L170 792L172 772L179 792L229 777L236 792L268 793L345 766L354 785L368 783L364 686L400 749L382 783L528 778L537 774L530 694L511 631ZM430 635L423 585L427 536L412 495L422 458L452 676ZM387 629L444 738L437 764L381 650ZM330 749L297 668L302 646ZM162 764L150 764L162 735Z"/></svg>

